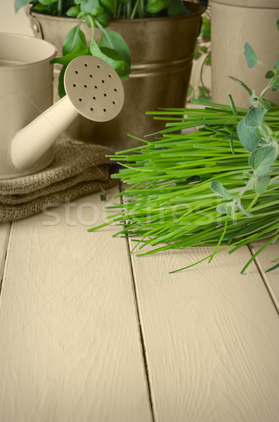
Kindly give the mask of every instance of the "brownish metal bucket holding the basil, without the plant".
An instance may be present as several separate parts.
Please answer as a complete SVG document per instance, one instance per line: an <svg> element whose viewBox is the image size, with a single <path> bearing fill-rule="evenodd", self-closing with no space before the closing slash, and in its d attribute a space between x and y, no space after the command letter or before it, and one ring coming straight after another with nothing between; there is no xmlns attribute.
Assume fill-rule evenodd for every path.
<svg viewBox="0 0 279 422"><path fill-rule="evenodd" d="M98 141L116 151L133 148L138 141L127 136L128 133L141 137L162 129L164 125L146 116L146 111L185 106L204 11L200 4L185 3L193 13L169 18L110 20L109 29L121 34L131 51L131 75L123 82L124 107L114 120L105 125L77 117L68 129L70 136ZM67 32L77 25L77 20L39 13L32 13L30 18L34 34L55 44L58 56L62 55L63 41ZM81 29L89 43L91 30L86 23L82 23ZM100 31L96 29L97 41L98 37Z"/></svg>

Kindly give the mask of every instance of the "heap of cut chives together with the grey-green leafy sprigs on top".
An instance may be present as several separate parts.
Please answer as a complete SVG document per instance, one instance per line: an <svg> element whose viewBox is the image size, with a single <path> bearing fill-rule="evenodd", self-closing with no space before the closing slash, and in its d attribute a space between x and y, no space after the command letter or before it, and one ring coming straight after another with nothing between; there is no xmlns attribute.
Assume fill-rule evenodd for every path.
<svg viewBox="0 0 279 422"><path fill-rule="evenodd" d="M279 20L277 25L279 29ZM245 57L249 68L260 63L248 43ZM269 89L279 89L279 60L268 67L268 84L259 96L235 80L249 92L249 110L235 107L229 96L230 106L193 100L204 108L150 113L157 120L170 120L157 140L143 139L144 146L111 157L122 165L114 177L131 186L119 193L121 205L107 207L115 213L106 224L122 225L118 235L131 237L140 250L155 247L139 256L214 246L201 260L210 262L221 250L231 248L232 253L269 238L243 273L279 238L279 107L264 99ZM177 133L193 127L200 129Z"/></svg>

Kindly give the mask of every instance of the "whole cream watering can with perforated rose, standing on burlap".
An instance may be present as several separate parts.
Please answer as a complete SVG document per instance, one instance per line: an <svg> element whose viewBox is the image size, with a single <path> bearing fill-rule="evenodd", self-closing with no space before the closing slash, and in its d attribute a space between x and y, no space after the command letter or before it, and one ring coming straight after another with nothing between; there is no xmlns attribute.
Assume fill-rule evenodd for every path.
<svg viewBox="0 0 279 422"><path fill-rule="evenodd" d="M108 63L74 58L64 76L66 96L52 106L56 47L0 33L0 179L32 174L53 160L53 142L82 114L96 122L116 117L124 90Z"/></svg>

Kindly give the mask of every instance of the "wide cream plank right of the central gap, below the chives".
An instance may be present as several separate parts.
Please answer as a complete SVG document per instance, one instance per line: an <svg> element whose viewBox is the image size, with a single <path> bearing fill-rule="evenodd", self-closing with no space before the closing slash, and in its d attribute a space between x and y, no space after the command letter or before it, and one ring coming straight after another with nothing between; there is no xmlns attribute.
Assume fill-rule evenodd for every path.
<svg viewBox="0 0 279 422"><path fill-rule="evenodd" d="M248 248L161 252L132 262L155 420L277 422L279 319Z"/></svg>

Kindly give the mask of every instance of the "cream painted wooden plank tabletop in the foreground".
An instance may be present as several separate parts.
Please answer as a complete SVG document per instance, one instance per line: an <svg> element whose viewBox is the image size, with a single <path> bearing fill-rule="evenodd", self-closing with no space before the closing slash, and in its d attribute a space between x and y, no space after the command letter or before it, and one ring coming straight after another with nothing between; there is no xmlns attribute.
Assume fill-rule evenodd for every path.
<svg viewBox="0 0 279 422"><path fill-rule="evenodd" d="M209 248L130 257L105 205L0 225L0 421L278 422L279 244L169 274Z"/></svg>

